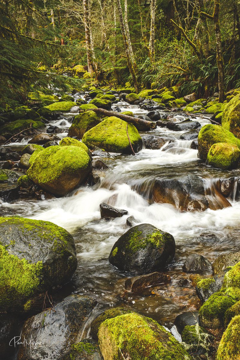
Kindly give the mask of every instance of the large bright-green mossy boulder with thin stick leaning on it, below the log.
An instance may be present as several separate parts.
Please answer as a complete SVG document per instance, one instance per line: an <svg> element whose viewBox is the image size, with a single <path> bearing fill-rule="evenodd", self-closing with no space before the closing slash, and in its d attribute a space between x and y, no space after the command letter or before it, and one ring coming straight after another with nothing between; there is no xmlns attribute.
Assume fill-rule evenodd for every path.
<svg viewBox="0 0 240 360"><path fill-rule="evenodd" d="M109 152L131 154L131 146L127 137L127 122L111 116L85 132L82 142L87 147L95 146ZM135 152L142 149L142 139L136 127L128 123L128 135Z"/></svg>

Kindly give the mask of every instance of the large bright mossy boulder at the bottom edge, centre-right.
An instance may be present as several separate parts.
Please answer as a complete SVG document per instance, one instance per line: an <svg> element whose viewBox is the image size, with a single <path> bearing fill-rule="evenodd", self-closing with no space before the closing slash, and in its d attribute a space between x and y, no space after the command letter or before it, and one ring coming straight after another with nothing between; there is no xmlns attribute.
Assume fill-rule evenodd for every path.
<svg viewBox="0 0 240 360"><path fill-rule="evenodd" d="M136 313L105 320L98 332L104 360L190 360L184 347L157 321Z"/></svg>

